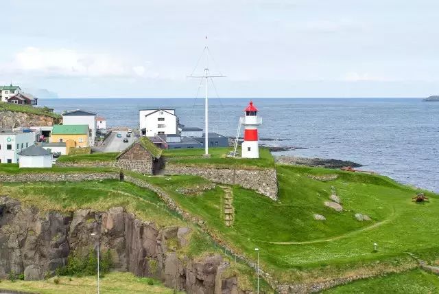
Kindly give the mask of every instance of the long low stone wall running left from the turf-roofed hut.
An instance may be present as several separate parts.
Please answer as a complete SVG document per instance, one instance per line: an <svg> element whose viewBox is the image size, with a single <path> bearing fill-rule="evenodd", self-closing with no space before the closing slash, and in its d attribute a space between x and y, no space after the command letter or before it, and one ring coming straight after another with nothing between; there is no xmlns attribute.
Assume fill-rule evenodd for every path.
<svg viewBox="0 0 439 294"><path fill-rule="evenodd" d="M30 181L100 181L119 179L119 172L40 172L29 174L1 174L1 182L30 182Z"/></svg>

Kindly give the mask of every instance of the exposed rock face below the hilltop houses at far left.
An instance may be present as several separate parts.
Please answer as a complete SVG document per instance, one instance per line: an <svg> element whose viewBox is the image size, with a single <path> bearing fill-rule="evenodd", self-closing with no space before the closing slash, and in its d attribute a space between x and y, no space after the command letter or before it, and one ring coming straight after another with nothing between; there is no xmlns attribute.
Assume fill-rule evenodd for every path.
<svg viewBox="0 0 439 294"><path fill-rule="evenodd" d="M21 113L14 111L0 111L0 128L10 129L19 126L53 126L60 120L46 115Z"/></svg>

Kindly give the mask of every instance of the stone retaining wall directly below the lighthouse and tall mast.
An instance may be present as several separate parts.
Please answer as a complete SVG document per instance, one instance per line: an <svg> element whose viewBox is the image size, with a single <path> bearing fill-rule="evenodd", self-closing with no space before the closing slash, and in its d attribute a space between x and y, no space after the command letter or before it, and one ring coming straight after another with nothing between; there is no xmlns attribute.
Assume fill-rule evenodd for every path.
<svg viewBox="0 0 439 294"><path fill-rule="evenodd" d="M276 170L242 170L229 168L201 168L197 166L180 166L166 164L165 174L192 174L204 177L215 183L241 185L244 188L255 190L259 194L277 199Z"/></svg>

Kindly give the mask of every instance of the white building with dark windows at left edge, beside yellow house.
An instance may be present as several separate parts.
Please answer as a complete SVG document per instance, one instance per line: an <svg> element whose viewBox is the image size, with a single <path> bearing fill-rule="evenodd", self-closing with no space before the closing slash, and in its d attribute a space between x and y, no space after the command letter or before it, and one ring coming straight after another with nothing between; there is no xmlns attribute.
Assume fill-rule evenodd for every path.
<svg viewBox="0 0 439 294"><path fill-rule="evenodd" d="M18 163L18 153L34 145L36 133L0 132L0 163Z"/></svg>

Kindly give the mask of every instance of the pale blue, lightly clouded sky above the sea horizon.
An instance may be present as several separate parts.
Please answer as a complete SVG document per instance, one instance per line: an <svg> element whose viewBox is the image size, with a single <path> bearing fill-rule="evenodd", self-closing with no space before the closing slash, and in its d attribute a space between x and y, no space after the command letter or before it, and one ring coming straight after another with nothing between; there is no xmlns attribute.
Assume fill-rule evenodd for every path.
<svg viewBox="0 0 439 294"><path fill-rule="evenodd" d="M0 84L60 98L439 94L437 0L3 0ZM205 38L207 36L207 40ZM195 74L202 74L198 64ZM201 95L198 93L198 95Z"/></svg>

